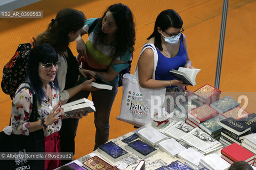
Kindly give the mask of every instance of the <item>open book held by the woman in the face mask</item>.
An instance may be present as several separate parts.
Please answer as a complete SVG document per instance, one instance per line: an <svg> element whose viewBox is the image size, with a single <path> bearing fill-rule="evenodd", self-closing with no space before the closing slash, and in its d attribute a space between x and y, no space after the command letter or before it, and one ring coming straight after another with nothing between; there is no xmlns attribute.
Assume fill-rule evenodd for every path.
<svg viewBox="0 0 256 170"><path fill-rule="evenodd" d="M183 83L195 86L196 85L196 75L201 69L188 69L185 67L179 67L178 70L170 70L178 80L182 80Z"/></svg>

